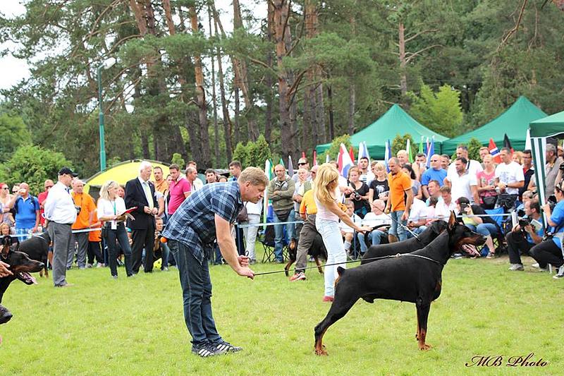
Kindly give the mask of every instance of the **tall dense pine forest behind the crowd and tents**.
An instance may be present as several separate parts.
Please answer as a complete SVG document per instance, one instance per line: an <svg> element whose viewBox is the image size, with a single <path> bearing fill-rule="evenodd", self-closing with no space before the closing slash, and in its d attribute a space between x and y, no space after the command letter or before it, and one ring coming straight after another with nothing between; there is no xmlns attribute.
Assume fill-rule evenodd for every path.
<svg viewBox="0 0 564 376"><path fill-rule="evenodd" d="M6 178L37 174L22 165L34 158L66 159L85 177L98 171L99 94L109 165L171 162L177 153L224 168L259 135L284 159L310 155L393 103L447 137L490 121L519 95L548 114L563 109L559 0L23 4L22 16L0 19L0 42L18 43L4 54L31 67L30 78L1 92ZM233 32L222 24L226 11ZM99 93L97 68L109 59L116 63L100 69Z"/></svg>

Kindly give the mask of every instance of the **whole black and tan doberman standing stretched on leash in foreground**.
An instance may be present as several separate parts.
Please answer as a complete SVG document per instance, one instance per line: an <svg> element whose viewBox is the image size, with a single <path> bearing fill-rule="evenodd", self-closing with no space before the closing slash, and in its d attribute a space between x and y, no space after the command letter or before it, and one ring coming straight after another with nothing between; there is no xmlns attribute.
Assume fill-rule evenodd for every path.
<svg viewBox="0 0 564 376"><path fill-rule="evenodd" d="M315 327L315 353L327 355L323 346L326 330L348 313L359 298L369 303L374 299L391 299L415 303L417 308L417 334L420 350L431 346L425 343L427 319L431 301L441 295L443 267L455 250L464 244L482 245L484 236L458 224L450 214L446 231L426 247L398 257L360 265L353 269L338 267L335 300L329 313Z"/></svg>

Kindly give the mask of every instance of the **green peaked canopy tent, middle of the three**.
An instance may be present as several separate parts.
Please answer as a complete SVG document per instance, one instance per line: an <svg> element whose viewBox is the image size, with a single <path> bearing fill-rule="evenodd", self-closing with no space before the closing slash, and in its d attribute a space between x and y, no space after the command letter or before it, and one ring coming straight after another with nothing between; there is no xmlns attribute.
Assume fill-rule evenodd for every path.
<svg viewBox="0 0 564 376"><path fill-rule="evenodd" d="M503 146L503 137L507 133L511 146L515 150L525 149L527 128L531 121L544 118L546 114L529 99L520 96L515 103L496 119L474 129L474 131L450 138L443 142L443 153L453 154L460 144L467 144L470 138L476 138L482 145L488 145L492 138L498 149Z"/></svg>

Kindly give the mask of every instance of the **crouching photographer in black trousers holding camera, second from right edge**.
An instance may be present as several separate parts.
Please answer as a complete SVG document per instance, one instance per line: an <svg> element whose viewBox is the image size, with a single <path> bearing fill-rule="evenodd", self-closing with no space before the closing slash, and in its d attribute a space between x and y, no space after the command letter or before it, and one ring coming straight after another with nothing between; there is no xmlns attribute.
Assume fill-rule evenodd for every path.
<svg viewBox="0 0 564 376"><path fill-rule="evenodd" d="M531 255L529 251L535 244L542 241L544 226L542 226L541 207L538 201L527 200L525 202L525 215L519 219L517 224L505 239L507 240L509 253L509 270L523 270L521 254ZM535 231L537 229L537 231Z"/></svg>

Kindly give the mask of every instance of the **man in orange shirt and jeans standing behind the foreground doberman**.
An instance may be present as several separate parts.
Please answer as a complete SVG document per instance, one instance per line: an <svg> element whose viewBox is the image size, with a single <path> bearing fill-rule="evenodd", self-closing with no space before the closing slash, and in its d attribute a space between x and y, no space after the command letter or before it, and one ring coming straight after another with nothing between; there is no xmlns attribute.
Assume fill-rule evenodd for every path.
<svg viewBox="0 0 564 376"><path fill-rule="evenodd" d="M411 179L407 174L401 171L400 161L393 157L388 161L388 186L390 187L390 195L386 203L386 214L390 214L392 225L388 231L388 240L390 243L395 241L405 241L407 234L405 227L407 225L407 217L410 214L411 204L413 202L413 191L411 189ZM407 198L405 196L407 195ZM401 226L400 224L403 224Z"/></svg>

